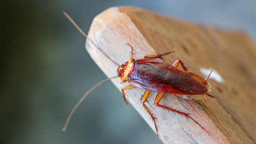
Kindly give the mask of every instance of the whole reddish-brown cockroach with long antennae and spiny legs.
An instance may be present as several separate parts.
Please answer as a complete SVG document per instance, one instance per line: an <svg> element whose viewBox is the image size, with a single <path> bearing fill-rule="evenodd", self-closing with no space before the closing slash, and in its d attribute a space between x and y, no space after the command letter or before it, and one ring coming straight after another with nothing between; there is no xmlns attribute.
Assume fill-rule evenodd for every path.
<svg viewBox="0 0 256 144"><path fill-rule="evenodd" d="M100 50L100 48L90 39L87 35L79 28L76 23L70 18L70 16L63 12L64 15L70 20L74 26L86 37L96 48ZM186 116L187 118L194 121L197 125L199 125L205 132L208 132L202 125L200 125L195 119L193 119L189 113L181 112L180 110L173 109L172 107L167 107L164 105L159 104L160 100L163 98L164 94L175 94L181 98L189 99L189 100L200 100L205 98L208 104L208 100L206 96L210 96L212 98L216 98L209 94L211 92L212 84L207 82L207 79L210 77L212 71L206 78L202 78L194 73L188 72L187 68L185 67L184 63L177 59L174 61L172 65L164 63L162 61L153 60L154 58L160 58L164 55L170 54L172 52L166 52L163 54L157 55L150 55L145 56L143 59L134 60L133 59L133 47L130 44L127 44L131 47L131 59L124 62L121 65L118 65L114 60L108 57L102 50L102 52L108 59L114 62L119 67L117 68L117 76L107 78L95 86L93 86L88 92L84 94L84 96L77 102L76 106L72 109L68 118L66 120L65 126L63 131L66 130L68 123L70 121L71 116L75 112L76 108L81 104L84 98L92 92L97 86L100 84L116 77L120 77L122 82L129 82L130 85L123 87L122 94L124 97L124 101L127 103L125 99L124 90L131 89L131 88L140 88L146 90L142 96L141 103L143 107L147 110L149 115L151 116L155 128L156 128L156 135L158 136L158 130L156 126L156 118L153 116L151 111L145 105L145 101L148 98L150 92L158 92L155 98L155 105L160 108L167 109L168 111L172 111L174 113L178 113L182 116ZM178 65L181 65L183 70L177 68Z"/></svg>

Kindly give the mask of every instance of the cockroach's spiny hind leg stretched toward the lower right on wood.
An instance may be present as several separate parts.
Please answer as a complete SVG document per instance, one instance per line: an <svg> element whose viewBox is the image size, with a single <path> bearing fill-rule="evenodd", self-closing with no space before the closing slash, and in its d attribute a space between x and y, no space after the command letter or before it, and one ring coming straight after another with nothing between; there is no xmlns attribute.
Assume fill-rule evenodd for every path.
<svg viewBox="0 0 256 144"><path fill-rule="evenodd" d="M180 115L183 115L183 116L186 116L188 117L189 119L191 119L192 121L194 121L196 124L198 124L205 132L208 132L202 125L200 125L196 120L194 120L191 116L189 116L187 113L185 112L181 112L180 110L176 110L176 109L173 109L173 108L169 108L169 107L166 107L164 105L160 105L159 104L159 101L162 99L162 97L164 96L164 93L157 93L156 95L156 99L155 99L155 105L158 106L158 107L161 107L161 108L165 108L167 110L171 110L173 111L174 113L178 113Z"/></svg>

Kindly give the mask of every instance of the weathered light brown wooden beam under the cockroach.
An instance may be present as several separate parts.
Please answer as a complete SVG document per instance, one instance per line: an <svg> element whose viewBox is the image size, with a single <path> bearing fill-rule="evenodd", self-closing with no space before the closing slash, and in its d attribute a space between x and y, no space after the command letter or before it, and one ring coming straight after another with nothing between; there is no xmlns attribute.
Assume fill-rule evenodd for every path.
<svg viewBox="0 0 256 144"><path fill-rule="evenodd" d="M162 103L191 113L209 134L193 121L152 106L156 96L151 92L146 105L157 118L160 139L164 143L255 143L256 142L256 48L243 32L214 29L167 18L134 7L113 7L92 22L89 37L117 63L130 59L131 44L134 58L152 53L175 51L164 56L166 63L177 58L185 61L189 71L205 77L200 68L213 68L224 79L214 83L212 93L221 99L185 100L166 94ZM89 41L86 49L108 76L115 76L117 66ZM121 89L127 83L112 81ZM155 130L154 124L141 106L144 90L126 90L126 97L140 115ZM125 104L125 103L124 103Z"/></svg>

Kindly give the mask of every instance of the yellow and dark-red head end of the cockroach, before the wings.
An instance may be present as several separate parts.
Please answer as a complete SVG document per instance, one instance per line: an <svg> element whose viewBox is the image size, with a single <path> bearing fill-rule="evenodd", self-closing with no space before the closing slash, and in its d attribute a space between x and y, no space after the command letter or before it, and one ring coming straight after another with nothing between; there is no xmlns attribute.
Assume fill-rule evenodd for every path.
<svg viewBox="0 0 256 144"><path fill-rule="evenodd" d="M126 82L132 73L133 62L134 59L128 60L117 68L117 76L119 76L123 82Z"/></svg>

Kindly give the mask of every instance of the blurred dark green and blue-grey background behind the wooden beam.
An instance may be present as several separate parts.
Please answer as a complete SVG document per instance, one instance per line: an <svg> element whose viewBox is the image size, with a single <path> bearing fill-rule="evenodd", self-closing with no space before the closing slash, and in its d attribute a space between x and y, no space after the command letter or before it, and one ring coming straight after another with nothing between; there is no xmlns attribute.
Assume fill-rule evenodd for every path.
<svg viewBox="0 0 256 144"><path fill-rule="evenodd" d="M93 91L75 112L68 130L61 131L81 96L106 78L63 11L85 32L93 17L105 9L130 5L244 30L256 40L255 0L23 0L0 5L1 144L162 143L111 82Z"/></svg>

